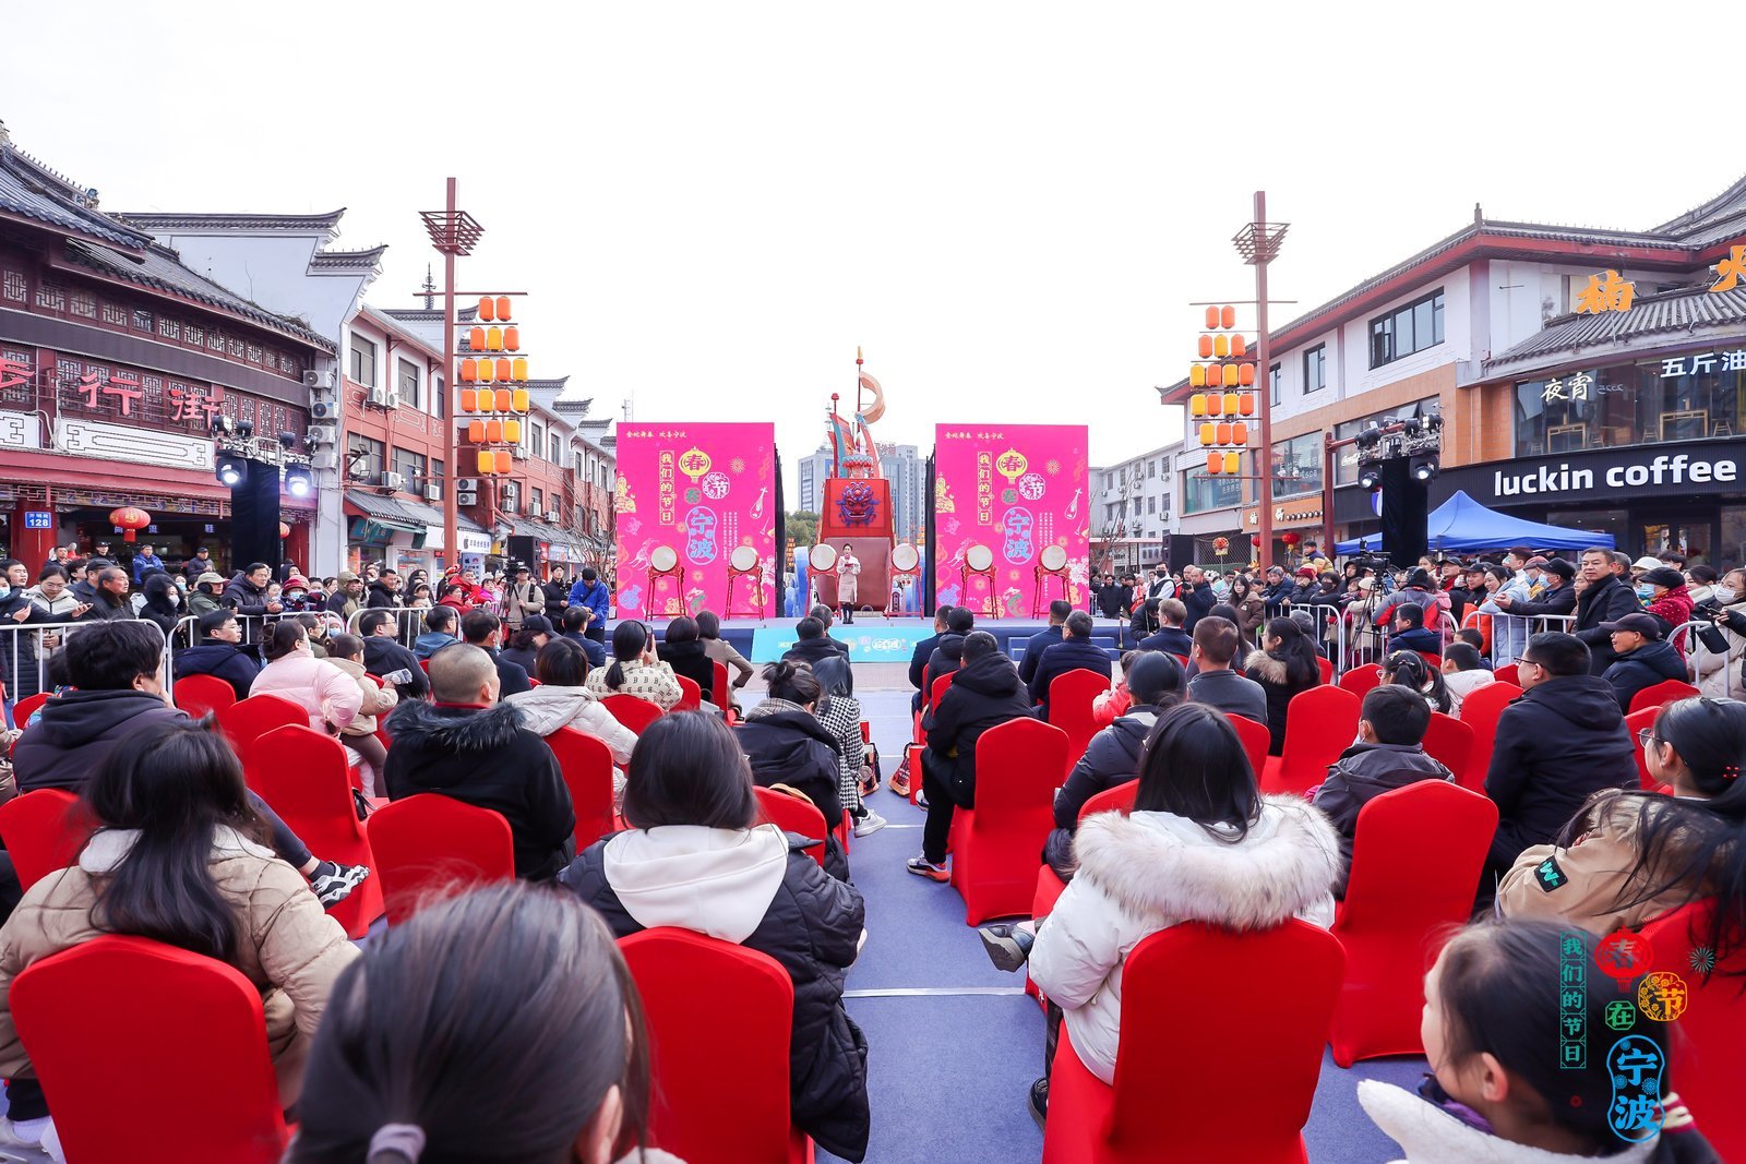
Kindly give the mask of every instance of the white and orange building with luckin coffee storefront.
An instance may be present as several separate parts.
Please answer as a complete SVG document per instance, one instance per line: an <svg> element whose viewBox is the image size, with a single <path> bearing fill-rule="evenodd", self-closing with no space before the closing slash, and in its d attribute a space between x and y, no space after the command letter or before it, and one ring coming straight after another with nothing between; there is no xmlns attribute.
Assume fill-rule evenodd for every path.
<svg viewBox="0 0 1746 1164"><path fill-rule="evenodd" d="M1269 560L1287 557L1283 534L1320 537L1329 508L1337 537L1381 529L1357 450L1329 457L1329 435L1437 412L1432 504L1463 489L1521 517L1606 531L1631 553L1671 546L1741 562L1746 490L1730 438L1746 407L1746 283L1736 286L1746 178L1646 230L1474 211L1470 225L1273 332ZM1186 401L1187 380L1161 396ZM1245 462L1243 473L1259 471L1254 455ZM1193 426L1175 473L1172 560L1212 562L1215 536L1247 548L1254 482L1208 475Z"/></svg>

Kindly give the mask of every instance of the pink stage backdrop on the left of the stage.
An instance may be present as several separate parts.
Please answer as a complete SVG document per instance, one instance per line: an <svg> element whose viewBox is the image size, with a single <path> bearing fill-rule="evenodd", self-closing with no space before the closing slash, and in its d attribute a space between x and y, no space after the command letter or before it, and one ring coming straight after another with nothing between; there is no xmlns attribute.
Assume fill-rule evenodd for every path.
<svg viewBox="0 0 1746 1164"><path fill-rule="evenodd" d="M625 424L616 452L618 616L768 616L775 600L775 426ZM730 567L740 546L756 551L751 574ZM660 569L663 550L672 555L670 572Z"/></svg>

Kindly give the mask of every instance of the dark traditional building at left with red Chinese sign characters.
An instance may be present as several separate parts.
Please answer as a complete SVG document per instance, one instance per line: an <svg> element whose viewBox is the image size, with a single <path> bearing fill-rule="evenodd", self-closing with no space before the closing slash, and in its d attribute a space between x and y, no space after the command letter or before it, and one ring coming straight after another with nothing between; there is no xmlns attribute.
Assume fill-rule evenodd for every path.
<svg viewBox="0 0 1746 1164"><path fill-rule="evenodd" d="M152 232L98 209L96 190L0 131L0 524L12 555L117 541L112 510L176 560L229 560L230 494L213 476L215 421L302 440L307 370L333 344L183 264ZM278 455L269 450L269 455ZM286 557L309 550L314 497L281 497Z"/></svg>

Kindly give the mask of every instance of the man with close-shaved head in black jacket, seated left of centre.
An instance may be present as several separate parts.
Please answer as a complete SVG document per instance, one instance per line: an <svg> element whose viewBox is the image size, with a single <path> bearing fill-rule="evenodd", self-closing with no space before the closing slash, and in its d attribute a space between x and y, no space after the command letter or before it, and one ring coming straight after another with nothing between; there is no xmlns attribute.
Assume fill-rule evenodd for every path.
<svg viewBox="0 0 1746 1164"><path fill-rule="evenodd" d="M503 813L515 841L515 876L548 881L576 855L576 810L546 742L522 714L498 703L498 668L477 647L431 660L433 703L410 700L388 716L389 799L438 792Z"/></svg>

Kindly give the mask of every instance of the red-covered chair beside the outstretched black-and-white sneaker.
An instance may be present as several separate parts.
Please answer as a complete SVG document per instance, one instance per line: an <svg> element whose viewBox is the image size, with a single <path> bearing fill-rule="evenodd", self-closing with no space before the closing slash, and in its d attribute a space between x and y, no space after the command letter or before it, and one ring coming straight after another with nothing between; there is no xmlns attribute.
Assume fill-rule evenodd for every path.
<svg viewBox="0 0 1746 1164"><path fill-rule="evenodd" d="M237 707L244 703L253 703L253 698ZM333 736L314 731L304 716L300 724L274 728L260 736L251 750L255 759L250 785L272 805L272 811L302 838L309 852L323 860L372 869L372 876L351 897L328 911L328 916L346 927L347 937L363 937L370 923L382 916L382 880L374 876L375 855L351 799L346 749Z"/></svg>

